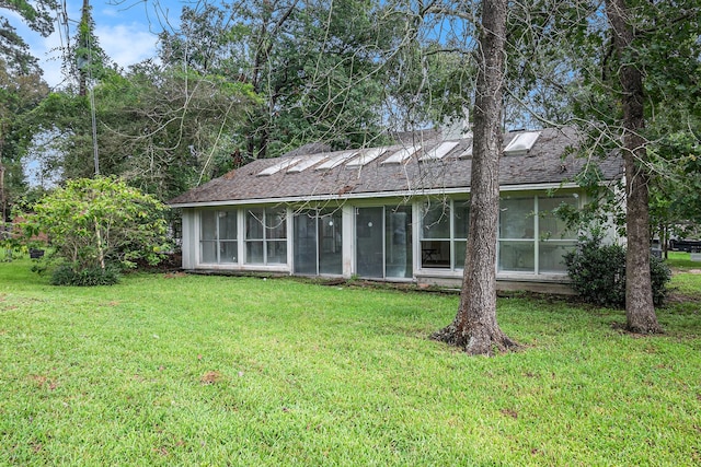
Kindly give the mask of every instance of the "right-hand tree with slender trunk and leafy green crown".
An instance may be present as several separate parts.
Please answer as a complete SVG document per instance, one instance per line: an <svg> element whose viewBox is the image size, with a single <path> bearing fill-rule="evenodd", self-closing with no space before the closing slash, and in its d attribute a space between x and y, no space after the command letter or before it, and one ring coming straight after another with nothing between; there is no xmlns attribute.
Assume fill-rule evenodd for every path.
<svg viewBox="0 0 701 467"><path fill-rule="evenodd" d="M685 0L610 0L605 7L588 16L588 34L575 37L586 52L577 60L581 91L573 97L594 142L587 150L619 151L625 160L627 326L657 332L650 287L650 187L674 177L677 156L664 149L665 135L686 133L698 141L700 10L698 2Z"/></svg>

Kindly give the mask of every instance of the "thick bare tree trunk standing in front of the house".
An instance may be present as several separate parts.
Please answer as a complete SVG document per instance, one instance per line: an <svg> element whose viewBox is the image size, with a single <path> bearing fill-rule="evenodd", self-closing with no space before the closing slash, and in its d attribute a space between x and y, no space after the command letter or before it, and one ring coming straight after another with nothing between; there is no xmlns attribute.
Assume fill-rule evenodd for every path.
<svg viewBox="0 0 701 467"><path fill-rule="evenodd" d="M502 93L506 0L483 2L479 74L474 100L474 139L470 182L470 231L460 306L452 324L433 338L492 354L516 347L496 323L496 235L502 155Z"/></svg>

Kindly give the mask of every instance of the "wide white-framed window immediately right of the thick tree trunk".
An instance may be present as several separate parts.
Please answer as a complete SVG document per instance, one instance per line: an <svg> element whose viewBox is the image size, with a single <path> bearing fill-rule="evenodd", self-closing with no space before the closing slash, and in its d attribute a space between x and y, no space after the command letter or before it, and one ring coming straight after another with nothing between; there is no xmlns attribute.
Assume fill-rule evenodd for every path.
<svg viewBox="0 0 701 467"><path fill-rule="evenodd" d="M576 232L566 229L555 210L577 206L577 198L532 197L502 199L498 271L564 273L563 255L576 246Z"/></svg>

